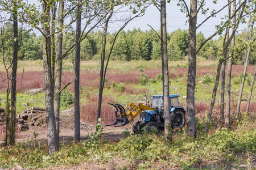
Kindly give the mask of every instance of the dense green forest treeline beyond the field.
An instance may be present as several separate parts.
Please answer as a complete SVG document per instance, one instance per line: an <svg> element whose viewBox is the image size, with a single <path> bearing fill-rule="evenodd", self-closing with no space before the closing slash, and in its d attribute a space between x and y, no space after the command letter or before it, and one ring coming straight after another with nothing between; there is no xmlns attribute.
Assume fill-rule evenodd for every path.
<svg viewBox="0 0 256 170"><path fill-rule="evenodd" d="M9 24L9 26L8 26ZM12 25L7 23L9 29L5 32L5 38L9 39L12 35ZM36 36L31 29L23 29L22 42L20 50L18 52L18 59L21 60L36 60L42 59L42 36ZM109 53L111 44L113 43L115 34L108 33L106 53ZM160 35L160 30L157 32ZM75 34L66 32L63 36L63 49L69 49L75 42ZM84 41L81 41L81 59L82 60L98 60L101 58L101 39L102 32L90 32ZM187 59L188 56L188 29L181 30L176 29L174 32L167 33L167 49L168 59L171 61L179 61ZM233 64L242 65L245 61L247 48L245 42L249 39L249 33L243 31L240 35L237 35L237 48L234 57ZM206 39L202 32L196 35L196 45L200 46ZM208 41L200 52L197 54L197 58L206 58L216 60L221 56L224 36L220 35L216 40ZM1 49L1 47L0 47ZM2 49L1 49L2 52ZM11 53L10 53L11 54ZM69 54L66 58L75 62L75 51ZM134 28L133 31L121 31L115 41L115 45L110 55L111 60L131 61L131 60L151 60L161 59L161 46L160 39L155 31L150 29L149 31L142 31L141 29ZM254 65L256 63L255 48L251 48L251 55L249 58L249 64Z"/></svg>

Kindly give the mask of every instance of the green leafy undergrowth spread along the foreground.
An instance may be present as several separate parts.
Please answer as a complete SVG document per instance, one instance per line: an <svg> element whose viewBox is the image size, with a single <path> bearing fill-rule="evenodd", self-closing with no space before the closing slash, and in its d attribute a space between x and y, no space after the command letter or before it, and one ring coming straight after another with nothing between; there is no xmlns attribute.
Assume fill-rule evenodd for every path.
<svg viewBox="0 0 256 170"><path fill-rule="evenodd" d="M35 139L28 139L26 144L28 146L20 142L15 147L2 147L0 168L11 168L19 164L23 168L38 169L50 165L108 163L112 159L126 159L137 162L138 168L143 166L147 168L147 165L160 163L168 168L186 169L193 164L220 159L224 165L231 162L235 163L235 166L245 163L237 153L256 156L254 128L245 130L245 127L238 126L235 131L222 129L217 130L213 135L202 135L197 139L189 138L184 132L174 134L173 141L167 141L162 135L131 135L117 143L102 140L102 136L106 134L103 133L100 124L97 128L100 130L90 134L88 141L65 146L61 144L60 151L55 152L53 156L47 155L47 147L40 146ZM140 161L144 164L139 164ZM251 161L248 156L247 164ZM124 166L129 167L129 165Z"/></svg>

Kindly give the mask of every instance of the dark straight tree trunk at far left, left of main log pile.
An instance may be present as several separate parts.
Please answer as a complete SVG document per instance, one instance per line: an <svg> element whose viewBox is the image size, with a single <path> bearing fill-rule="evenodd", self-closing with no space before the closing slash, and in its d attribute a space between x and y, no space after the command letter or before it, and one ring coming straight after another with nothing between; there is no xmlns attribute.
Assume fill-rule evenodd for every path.
<svg viewBox="0 0 256 170"><path fill-rule="evenodd" d="M15 118L16 118L16 73L18 65L18 18L16 10L13 11L13 70L12 70L12 87L11 87L11 127L10 127L10 145L15 143Z"/></svg>

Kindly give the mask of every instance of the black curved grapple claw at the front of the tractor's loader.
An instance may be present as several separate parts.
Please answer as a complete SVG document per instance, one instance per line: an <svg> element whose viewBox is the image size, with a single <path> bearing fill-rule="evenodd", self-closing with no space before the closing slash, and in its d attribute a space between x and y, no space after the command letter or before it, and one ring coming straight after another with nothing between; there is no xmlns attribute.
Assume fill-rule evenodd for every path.
<svg viewBox="0 0 256 170"><path fill-rule="evenodd" d="M113 105L113 107L115 107L115 109L117 109L115 111L115 122L113 124L110 124L110 125L105 125L105 126L113 126L113 125L116 125L116 124L121 124L121 125L118 125L118 126L113 126L113 127L120 127L120 126L125 126L127 124L129 124L129 120L126 116L126 112L125 112L125 108L122 107L122 105L119 105L119 104L111 104L111 103L108 103L110 105Z"/></svg>

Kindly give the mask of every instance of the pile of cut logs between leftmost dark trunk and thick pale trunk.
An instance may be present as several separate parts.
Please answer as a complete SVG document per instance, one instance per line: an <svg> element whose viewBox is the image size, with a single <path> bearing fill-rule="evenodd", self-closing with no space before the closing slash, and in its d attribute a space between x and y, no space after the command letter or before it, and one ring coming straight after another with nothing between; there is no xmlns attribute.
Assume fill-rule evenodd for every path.
<svg viewBox="0 0 256 170"><path fill-rule="evenodd" d="M16 122L26 126L40 126L47 121L46 108L32 107L18 114Z"/></svg>

